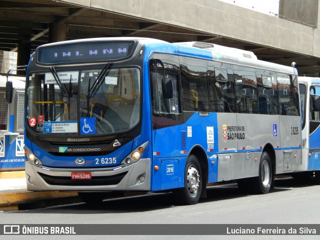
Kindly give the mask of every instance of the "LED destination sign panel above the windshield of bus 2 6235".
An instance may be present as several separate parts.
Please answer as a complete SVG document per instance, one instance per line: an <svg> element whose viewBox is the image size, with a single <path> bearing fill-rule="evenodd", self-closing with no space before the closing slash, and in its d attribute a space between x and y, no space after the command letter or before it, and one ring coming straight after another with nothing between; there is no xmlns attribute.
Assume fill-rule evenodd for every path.
<svg viewBox="0 0 320 240"><path fill-rule="evenodd" d="M130 56L134 41L90 41L42 46L37 62L59 64L88 61L119 60Z"/></svg>

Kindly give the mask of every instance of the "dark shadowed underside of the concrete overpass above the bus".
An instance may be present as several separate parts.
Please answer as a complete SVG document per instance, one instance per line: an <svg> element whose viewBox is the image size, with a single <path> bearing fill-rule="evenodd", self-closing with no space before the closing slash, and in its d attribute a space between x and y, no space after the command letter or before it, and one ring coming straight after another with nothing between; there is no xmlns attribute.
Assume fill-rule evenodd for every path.
<svg viewBox="0 0 320 240"><path fill-rule="evenodd" d="M137 36L168 42L211 42L252 51L260 60L288 66L296 62L299 75L319 77L320 73L317 57L58 0L0 0L0 6L0 50L16 51L18 44L30 44L33 52L37 46L50 42L50 24L65 23L65 40Z"/></svg>

